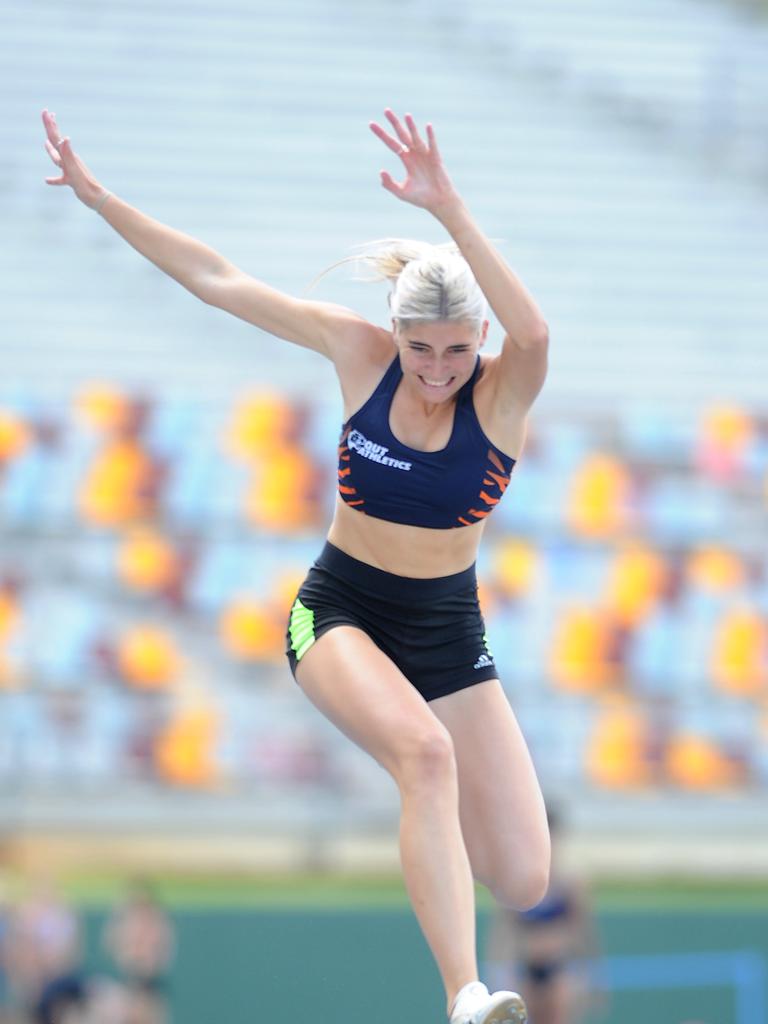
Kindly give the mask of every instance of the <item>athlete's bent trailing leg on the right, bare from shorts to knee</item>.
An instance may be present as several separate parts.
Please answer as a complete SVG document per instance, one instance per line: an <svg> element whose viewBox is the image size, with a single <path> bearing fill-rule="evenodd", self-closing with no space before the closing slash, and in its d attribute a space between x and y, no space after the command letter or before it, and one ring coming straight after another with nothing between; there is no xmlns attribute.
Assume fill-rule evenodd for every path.
<svg viewBox="0 0 768 1024"><path fill-rule="evenodd" d="M502 684L475 683L429 707L454 740L461 825L475 879L504 906L535 906L549 882L547 814Z"/></svg>

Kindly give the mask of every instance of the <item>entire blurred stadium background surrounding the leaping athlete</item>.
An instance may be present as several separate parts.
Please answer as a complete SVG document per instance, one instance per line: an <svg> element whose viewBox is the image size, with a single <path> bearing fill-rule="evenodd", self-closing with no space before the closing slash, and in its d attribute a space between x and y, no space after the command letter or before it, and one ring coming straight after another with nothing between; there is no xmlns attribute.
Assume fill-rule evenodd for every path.
<svg viewBox="0 0 768 1024"><path fill-rule="evenodd" d="M557 1017L531 969L531 1024L768 1020L768 4L0 0L3 1024L444 1019L396 790L283 653L330 364L43 180L48 108L127 202L386 325L348 268L308 292L444 241L379 184L386 105L551 331L478 562L580 894L589 993ZM539 926L478 898L519 972Z"/></svg>

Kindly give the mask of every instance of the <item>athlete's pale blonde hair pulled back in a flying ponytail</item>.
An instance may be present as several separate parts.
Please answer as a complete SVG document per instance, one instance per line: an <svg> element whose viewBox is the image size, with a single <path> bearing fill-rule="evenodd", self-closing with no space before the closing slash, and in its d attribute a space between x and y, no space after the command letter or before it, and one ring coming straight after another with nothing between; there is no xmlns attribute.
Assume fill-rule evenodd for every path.
<svg viewBox="0 0 768 1024"><path fill-rule="evenodd" d="M454 243L432 245L413 239L379 239L357 248L359 253L333 266L362 263L372 269L373 276L358 280L390 282L389 308L398 326L461 321L479 331L486 319L485 296Z"/></svg>

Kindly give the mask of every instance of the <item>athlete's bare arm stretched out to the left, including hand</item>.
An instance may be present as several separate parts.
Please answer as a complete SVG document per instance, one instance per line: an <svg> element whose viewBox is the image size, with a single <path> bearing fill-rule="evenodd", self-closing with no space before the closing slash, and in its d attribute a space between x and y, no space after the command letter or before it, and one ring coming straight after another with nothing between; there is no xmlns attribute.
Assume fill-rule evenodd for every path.
<svg viewBox="0 0 768 1024"><path fill-rule="evenodd" d="M347 341L371 330L362 317L330 302L295 299L239 269L215 249L162 224L108 193L61 138L55 115L43 111L45 147L61 174L50 185L70 185L85 206L133 248L203 302L248 321L286 341L314 349L336 361Z"/></svg>

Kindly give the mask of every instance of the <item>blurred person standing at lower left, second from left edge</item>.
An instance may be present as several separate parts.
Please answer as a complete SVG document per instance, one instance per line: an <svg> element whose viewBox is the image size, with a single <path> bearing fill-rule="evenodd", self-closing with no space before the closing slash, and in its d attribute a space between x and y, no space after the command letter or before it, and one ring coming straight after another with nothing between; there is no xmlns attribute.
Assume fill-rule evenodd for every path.
<svg viewBox="0 0 768 1024"><path fill-rule="evenodd" d="M103 945L126 989L125 1024L165 1024L175 953L172 922L152 887L137 880L104 927Z"/></svg>

